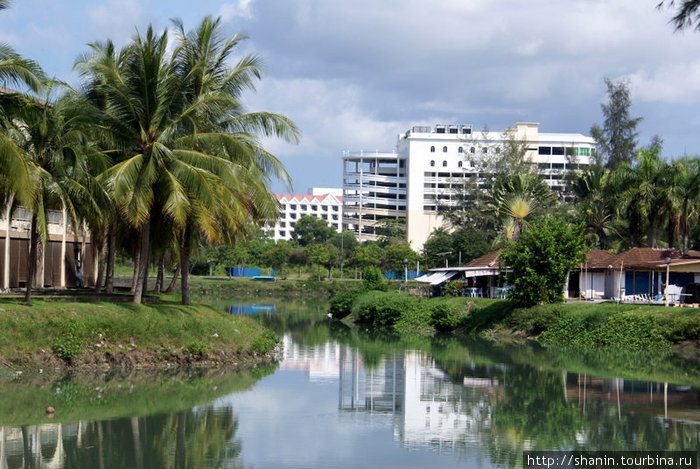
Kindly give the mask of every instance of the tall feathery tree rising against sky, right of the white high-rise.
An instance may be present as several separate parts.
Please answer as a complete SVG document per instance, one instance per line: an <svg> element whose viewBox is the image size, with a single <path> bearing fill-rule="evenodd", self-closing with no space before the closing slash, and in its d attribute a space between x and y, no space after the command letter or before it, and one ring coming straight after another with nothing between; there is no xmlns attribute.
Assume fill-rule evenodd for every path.
<svg viewBox="0 0 700 469"><path fill-rule="evenodd" d="M641 117L631 117L629 84L605 79L608 101L601 104L603 126L593 124L591 136L598 145L598 158L606 168L615 169L622 163L632 164L637 148L637 125Z"/></svg>

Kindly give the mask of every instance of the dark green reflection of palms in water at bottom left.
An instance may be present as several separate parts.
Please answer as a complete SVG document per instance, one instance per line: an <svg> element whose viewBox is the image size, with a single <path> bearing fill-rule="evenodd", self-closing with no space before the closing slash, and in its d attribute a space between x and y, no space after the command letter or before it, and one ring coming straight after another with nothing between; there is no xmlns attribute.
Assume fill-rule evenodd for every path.
<svg viewBox="0 0 700 469"><path fill-rule="evenodd" d="M2 468L201 468L241 452L230 407L168 415L0 428Z"/></svg>

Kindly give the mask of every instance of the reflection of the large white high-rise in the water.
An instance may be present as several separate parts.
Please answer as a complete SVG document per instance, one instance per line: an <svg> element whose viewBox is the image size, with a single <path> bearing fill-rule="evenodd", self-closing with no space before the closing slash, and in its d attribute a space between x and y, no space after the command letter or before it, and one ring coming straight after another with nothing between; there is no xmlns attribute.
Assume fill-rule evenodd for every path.
<svg viewBox="0 0 700 469"><path fill-rule="evenodd" d="M490 425L488 397L501 386L491 375L503 370L472 371L473 376L455 383L422 352L396 352L367 367L357 350L343 349L340 408L391 413L394 435L407 446L442 451L478 444L480 432Z"/></svg>

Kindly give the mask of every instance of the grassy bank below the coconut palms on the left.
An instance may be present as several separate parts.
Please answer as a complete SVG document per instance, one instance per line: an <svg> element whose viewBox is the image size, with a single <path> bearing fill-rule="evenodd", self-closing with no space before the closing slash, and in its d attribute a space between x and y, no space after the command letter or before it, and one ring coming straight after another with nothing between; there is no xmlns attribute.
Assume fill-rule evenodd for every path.
<svg viewBox="0 0 700 469"><path fill-rule="evenodd" d="M276 343L255 321L201 305L0 301L5 369L250 363Z"/></svg>

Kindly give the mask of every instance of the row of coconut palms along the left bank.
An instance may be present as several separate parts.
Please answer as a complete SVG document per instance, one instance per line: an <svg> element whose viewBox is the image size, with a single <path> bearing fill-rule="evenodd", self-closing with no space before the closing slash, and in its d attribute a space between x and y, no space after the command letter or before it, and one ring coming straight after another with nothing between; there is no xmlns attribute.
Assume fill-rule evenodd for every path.
<svg viewBox="0 0 700 469"><path fill-rule="evenodd" d="M28 304L49 210L89 232L97 291L113 291L118 252L133 260L135 303L156 264L156 289L177 265L189 304L193 253L277 216L269 184L289 178L260 138L296 142L300 132L285 116L243 107L262 77L258 56L237 57L245 39L206 17L191 31L179 20L162 33L149 26L121 48L96 41L76 60L77 87L0 46L0 198L31 213Z"/></svg>

